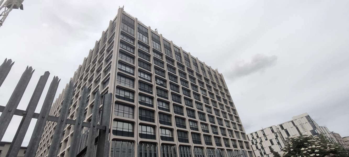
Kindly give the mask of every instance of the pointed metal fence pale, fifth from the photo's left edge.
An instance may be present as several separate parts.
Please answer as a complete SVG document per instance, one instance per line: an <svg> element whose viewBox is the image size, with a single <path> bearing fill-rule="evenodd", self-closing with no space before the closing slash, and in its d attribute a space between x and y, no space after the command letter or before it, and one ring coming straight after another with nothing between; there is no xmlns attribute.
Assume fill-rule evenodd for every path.
<svg viewBox="0 0 349 157"><path fill-rule="evenodd" d="M61 108L60 115L58 117L58 122L57 122L56 128L54 130L53 139L52 139L51 147L50 147L49 154L48 154L49 157L56 157L58 154L58 151L59 151L58 146L61 143L61 139L63 136L63 130L66 126L69 106L70 106L70 103L72 100L73 87L74 87L74 83L72 80L70 80L68 88L65 91L63 105Z"/></svg>

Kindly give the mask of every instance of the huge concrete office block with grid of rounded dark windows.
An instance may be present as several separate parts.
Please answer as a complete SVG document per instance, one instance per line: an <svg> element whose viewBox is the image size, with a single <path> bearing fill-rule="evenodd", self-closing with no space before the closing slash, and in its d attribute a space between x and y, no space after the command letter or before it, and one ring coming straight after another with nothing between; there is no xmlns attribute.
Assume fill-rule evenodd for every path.
<svg viewBox="0 0 349 157"><path fill-rule="evenodd" d="M75 119L84 85L89 92L86 121L91 118L96 90L114 95L110 140L117 142L117 149L111 151L121 157L126 152L134 156L253 156L223 75L123 8L72 80L70 119ZM55 100L52 115L59 114L63 95L64 91ZM60 146L50 146L55 123L48 122L37 156L47 156L50 146L60 147L59 156L66 157L73 127L66 126Z"/></svg>

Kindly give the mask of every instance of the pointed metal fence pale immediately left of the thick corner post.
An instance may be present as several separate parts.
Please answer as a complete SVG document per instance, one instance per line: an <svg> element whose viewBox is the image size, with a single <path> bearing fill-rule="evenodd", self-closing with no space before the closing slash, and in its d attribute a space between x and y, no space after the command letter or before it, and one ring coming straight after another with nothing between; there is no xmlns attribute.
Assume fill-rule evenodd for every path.
<svg viewBox="0 0 349 157"><path fill-rule="evenodd" d="M99 105L101 104L101 94L99 93L99 90L96 91L95 94L95 101L92 109L92 117L91 117L91 127L90 132L88 136L88 142L87 142L87 150L86 150L86 156L87 157L93 157L94 156L94 150L95 150L95 140L96 140L96 133L97 133L97 122L98 122L98 113L99 113Z"/></svg>

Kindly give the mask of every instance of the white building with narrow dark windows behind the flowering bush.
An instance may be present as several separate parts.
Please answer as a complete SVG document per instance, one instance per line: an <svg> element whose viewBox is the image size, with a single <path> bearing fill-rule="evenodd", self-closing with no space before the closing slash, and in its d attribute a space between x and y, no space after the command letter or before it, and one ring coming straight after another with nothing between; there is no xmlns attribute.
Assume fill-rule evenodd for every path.
<svg viewBox="0 0 349 157"><path fill-rule="evenodd" d="M282 154L283 151L281 149L284 147L283 141L285 138L296 137L300 134L323 134L333 143L339 143L343 148L348 148L347 145L343 144L343 140L342 142L338 140L340 137L339 134L335 133L337 135L334 135L334 133L330 132L327 127L319 126L307 113L292 117L292 120L282 124L257 130L247 136L251 140L251 148L256 157L273 157L270 152L271 149Z"/></svg>

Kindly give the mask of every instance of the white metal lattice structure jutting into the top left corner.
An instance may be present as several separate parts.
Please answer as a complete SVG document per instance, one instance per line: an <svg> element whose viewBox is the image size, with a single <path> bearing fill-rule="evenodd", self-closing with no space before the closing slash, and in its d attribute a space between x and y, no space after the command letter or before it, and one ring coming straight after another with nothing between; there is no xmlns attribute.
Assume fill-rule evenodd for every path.
<svg viewBox="0 0 349 157"><path fill-rule="evenodd" d="M5 21L8 14L12 9L21 9L23 10L23 1L24 0L0 0L0 27Z"/></svg>

